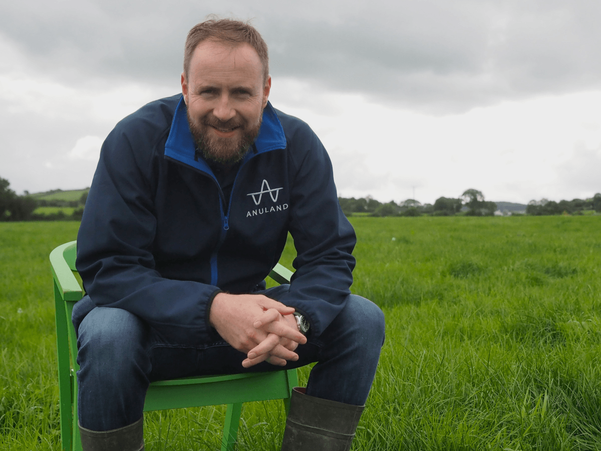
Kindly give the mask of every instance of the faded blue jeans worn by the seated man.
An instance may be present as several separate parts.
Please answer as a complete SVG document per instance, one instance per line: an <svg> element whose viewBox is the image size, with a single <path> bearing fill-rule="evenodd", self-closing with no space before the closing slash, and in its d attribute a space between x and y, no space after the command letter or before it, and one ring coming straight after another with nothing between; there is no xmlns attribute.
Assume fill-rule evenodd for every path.
<svg viewBox="0 0 601 451"><path fill-rule="evenodd" d="M288 285L263 290L278 299ZM78 332L79 424L110 431L142 416L152 381L198 375L292 369L317 362L307 394L364 405L384 342L384 315L373 302L350 295L346 307L319 336L299 345L299 360L285 367L262 362L244 368L243 352L224 340L213 343L169 343L142 319L120 308L96 307L85 296L73 308Z"/></svg>

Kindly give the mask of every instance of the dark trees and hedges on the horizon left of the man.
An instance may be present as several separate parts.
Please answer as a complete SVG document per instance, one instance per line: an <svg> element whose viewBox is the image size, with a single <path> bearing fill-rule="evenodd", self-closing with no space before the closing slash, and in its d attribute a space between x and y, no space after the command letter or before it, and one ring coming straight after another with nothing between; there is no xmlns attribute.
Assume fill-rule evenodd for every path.
<svg viewBox="0 0 601 451"><path fill-rule="evenodd" d="M81 221L87 192L75 201L38 200L27 191L23 195L18 195L9 186L10 182L0 177L0 221ZM38 214L34 213L37 207L73 207L75 210L71 215L66 215L63 211Z"/></svg>

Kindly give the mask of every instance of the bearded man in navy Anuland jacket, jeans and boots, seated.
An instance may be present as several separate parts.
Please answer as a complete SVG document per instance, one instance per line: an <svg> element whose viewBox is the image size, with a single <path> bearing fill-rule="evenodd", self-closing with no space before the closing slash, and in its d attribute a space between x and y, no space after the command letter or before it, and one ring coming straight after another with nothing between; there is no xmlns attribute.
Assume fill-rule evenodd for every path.
<svg viewBox="0 0 601 451"><path fill-rule="evenodd" d="M282 449L347 450L383 314L350 294L355 233L307 124L267 101L267 46L235 20L192 28L182 94L106 138L78 235L84 450L139 450L148 384L317 362ZM265 289L291 233L291 284Z"/></svg>

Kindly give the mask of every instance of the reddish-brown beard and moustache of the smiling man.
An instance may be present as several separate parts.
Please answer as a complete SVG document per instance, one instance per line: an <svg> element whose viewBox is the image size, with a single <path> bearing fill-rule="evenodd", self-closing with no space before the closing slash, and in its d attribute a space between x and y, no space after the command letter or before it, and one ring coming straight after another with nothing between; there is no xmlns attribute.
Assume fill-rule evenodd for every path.
<svg viewBox="0 0 601 451"><path fill-rule="evenodd" d="M244 157L248 148L255 142L263 121L263 109L261 109L257 123L250 125L240 117L233 117L224 122L209 113L197 122L192 119L189 112L186 114L188 115L188 125L194 143L198 150L203 152L204 158L225 165L237 163ZM242 135L231 138L210 136L208 133L209 127L216 127L221 130L240 127Z"/></svg>

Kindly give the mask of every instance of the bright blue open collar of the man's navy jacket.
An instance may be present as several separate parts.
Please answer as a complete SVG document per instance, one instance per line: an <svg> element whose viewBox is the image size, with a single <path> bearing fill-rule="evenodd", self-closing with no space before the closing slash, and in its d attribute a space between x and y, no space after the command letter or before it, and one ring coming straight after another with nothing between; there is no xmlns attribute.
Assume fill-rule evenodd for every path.
<svg viewBox="0 0 601 451"><path fill-rule="evenodd" d="M255 140L255 147L257 153L285 149L286 147L284 129L270 102L267 102L267 106L263 110L263 123L261 123L261 129ZM207 162L204 161L204 158L194 158L195 153L196 148L194 139L192 138L192 133L188 126L188 117L186 115L186 103L182 96L175 108L171 129L169 130L169 136L165 143L165 157L172 158L197 168L198 170L212 174L213 172L210 170ZM243 162L246 162L252 155L252 152L246 152Z"/></svg>

